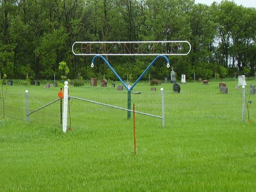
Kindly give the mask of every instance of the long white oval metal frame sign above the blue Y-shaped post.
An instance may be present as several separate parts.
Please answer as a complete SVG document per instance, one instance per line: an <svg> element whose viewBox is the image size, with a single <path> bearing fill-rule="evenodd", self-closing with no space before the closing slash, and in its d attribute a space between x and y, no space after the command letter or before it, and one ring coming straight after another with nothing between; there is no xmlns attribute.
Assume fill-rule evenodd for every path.
<svg viewBox="0 0 256 192"><path fill-rule="evenodd" d="M75 55L187 55L188 41L76 41Z"/></svg>

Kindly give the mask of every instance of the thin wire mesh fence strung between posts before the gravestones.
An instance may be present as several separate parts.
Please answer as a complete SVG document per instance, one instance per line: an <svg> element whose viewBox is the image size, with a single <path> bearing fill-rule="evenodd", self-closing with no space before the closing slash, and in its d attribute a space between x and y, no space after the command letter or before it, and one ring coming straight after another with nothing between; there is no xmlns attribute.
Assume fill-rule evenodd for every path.
<svg viewBox="0 0 256 192"><path fill-rule="evenodd" d="M191 90L183 89L180 93L173 92L172 89L164 90L165 119L216 119L242 121L242 90L230 89L228 94L220 93L219 89L214 90ZM103 93L101 93L103 92ZM113 94L109 97L107 94ZM73 91L72 96L76 96ZM250 94L246 89L246 119L256 119L255 95ZM120 108L127 108L127 95L125 91L116 90L97 90L95 93L80 98L90 99L101 103L111 104ZM112 99L110 99L112 98ZM35 94L29 93L29 111L40 108L54 100L58 99L57 94ZM252 102L248 102L252 101ZM132 102L136 104L136 111L161 116L161 94L158 91L145 91L139 95L132 94ZM248 106L248 108L247 108ZM0 103L0 114L3 114L3 102ZM249 116L248 116L249 112ZM5 116L7 118L22 120L27 122L26 95L24 92L10 91L5 99ZM38 110L30 115L31 123L44 125L61 126L60 101L56 101L45 108ZM111 123L110 119L115 121L124 121L127 112L108 108L107 106L88 103L86 101L71 98L69 100L68 123L73 126L86 124L89 121L99 123ZM143 117L144 119L148 117Z"/></svg>

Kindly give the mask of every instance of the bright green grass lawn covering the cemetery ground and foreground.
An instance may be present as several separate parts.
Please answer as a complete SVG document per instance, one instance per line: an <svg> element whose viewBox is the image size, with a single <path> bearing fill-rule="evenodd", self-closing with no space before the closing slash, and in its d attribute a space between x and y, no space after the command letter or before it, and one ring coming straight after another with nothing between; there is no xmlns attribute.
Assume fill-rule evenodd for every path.
<svg viewBox="0 0 256 192"><path fill-rule="evenodd" d="M59 88L8 86L6 118L0 120L0 191L255 191L256 95L250 95L248 122L242 122L242 90L237 81L149 86L139 82L132 93L136 111L137 153L133 118L127 112L70 99L68 127L62 132L60 103L26 122L25 90L30 111L57 99ZM127 92L108 87L69 88L69 95L127 107ZM150 91L156 87L157 91ZM3 103L0 104L2 116ZM133 115L132 115L133 116Z"/></svg>

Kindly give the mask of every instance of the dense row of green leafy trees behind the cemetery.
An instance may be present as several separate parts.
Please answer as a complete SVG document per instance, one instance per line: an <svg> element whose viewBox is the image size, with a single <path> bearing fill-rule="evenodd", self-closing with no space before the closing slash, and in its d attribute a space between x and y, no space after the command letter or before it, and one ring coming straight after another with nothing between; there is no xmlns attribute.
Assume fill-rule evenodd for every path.
<svg viewBox="0 0 256 192"><path fill-rule="evenodd" d="M75 56L75 41L187 40L191 52L168 56L178 77L253 76L256 11L232 1L210 6L194 0L0 0L0 73L16 79L60 78L59 63L78 74L117 80L100 59ZM154 56L105 56L121 78L137 79ZM164 59L147 72L168 77Z"/></svg>

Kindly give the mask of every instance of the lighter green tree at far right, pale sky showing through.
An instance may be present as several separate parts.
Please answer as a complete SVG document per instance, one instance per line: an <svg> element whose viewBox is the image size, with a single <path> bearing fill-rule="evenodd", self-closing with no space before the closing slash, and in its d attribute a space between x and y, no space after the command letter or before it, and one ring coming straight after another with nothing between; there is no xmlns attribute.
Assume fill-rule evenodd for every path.
<svg viewBox="0 0 256 192"><path fill-rule="evenodd" d="M216 60L220 65L237 67L242 72L243 68L250 66L252 60L248 58L253 57L249 50L254 46L256 10L229 1L212 5L212 10L218 31L214 52Z"/></svg>

